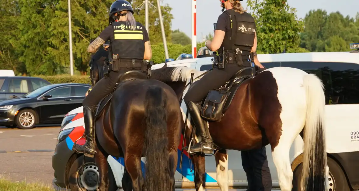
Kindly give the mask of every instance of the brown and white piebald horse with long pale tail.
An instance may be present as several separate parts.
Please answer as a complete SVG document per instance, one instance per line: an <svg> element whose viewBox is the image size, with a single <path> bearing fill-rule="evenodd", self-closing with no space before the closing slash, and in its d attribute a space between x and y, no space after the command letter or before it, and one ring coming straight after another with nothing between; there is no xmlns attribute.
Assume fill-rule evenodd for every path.
<svg viewBox="0 0 359 191"><path fill-rule="evenodd" d="M153 70L154 78L170 85L179 99L187 92L185 85L191 73L196 77L203 72L187 67ZM243 82L221 121L209 122L211 137L219 147L215 160L220 190L228 191L227 150L251 150L268 144L272 148L281 190L292 190L289 150L300 134L304 141L303 190L325 191L328 167L324 107L323 83L316 75L300 69L270 68ZM188 144L192 126L186 128L190 129L185 135ZM204 155L191 158L196 190L204 191Z"/></svg>

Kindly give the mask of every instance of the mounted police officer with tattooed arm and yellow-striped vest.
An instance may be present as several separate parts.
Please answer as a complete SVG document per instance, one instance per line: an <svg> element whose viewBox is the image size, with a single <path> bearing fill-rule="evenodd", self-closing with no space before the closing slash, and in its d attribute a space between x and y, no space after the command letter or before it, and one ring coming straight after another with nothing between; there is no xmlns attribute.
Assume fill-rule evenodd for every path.
<svg viewBox="0 0 359 191"><path fill-rule="evenodd" d="M106 41L109 44L108 73L99 80L84 99L86 143L76 142L72 148L77 153L94 157L94 111L101 99L113 92L121 74L130 70L143 71L143 60L150 60L152 51L146 28L134 18L131 4L125 0L116 0L109 9L109 26L88 46L87 51L95 53ZM106 71L104 71L106 74Z"/></svg>

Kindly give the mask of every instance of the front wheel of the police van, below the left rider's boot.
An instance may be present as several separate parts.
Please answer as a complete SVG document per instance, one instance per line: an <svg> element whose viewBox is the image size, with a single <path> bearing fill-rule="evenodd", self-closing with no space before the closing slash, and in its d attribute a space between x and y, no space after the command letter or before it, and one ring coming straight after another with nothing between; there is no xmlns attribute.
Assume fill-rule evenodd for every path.
<svg viewBox="0 0 359 191"><path fill-rule="evenodd" d="M71 165L68 176L70 189L71 191L96 191L99 173L94 158L86 157L83 173L81 173L82 161L83 156L80 156Z"/></svg>

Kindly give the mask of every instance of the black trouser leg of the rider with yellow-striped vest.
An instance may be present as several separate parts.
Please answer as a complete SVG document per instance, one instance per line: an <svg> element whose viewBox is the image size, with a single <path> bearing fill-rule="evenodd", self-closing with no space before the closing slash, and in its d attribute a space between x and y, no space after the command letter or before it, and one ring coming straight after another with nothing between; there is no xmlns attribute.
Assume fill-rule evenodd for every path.
<svg viewBox="0 0 359 191"><path fill-rule="evenodd" d="M130 70L120 70L119 72L112 71L108 73L108 78L101 78L82 101L82 106L87 106L92 109L92 111L95 111L96 106L101 99L113 92L113 88L115 88L120 75L127 71Z"/></svg>

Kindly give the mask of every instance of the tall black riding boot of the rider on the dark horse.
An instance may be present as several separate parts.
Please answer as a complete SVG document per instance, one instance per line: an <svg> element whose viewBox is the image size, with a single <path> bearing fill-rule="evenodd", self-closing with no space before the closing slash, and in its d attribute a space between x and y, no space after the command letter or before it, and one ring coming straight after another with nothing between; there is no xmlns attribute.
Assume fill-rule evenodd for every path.
<svg viewBox="0 0 359 191"><path fill-rule="evenodd" d="M95 120L94 112L87 106L84 106L84 121L86 143L84 145L77 145L76 142L72 150L77 153L84 153L85 156L93 158L95 155Z"/></svg>

